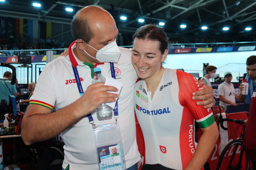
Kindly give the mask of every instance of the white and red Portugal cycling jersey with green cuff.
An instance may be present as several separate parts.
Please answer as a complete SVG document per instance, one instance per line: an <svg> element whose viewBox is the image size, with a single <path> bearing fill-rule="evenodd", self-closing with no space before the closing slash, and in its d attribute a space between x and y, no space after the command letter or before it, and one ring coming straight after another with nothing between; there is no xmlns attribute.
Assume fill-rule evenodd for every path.
<svg viewBox="0 0 256 170"><path fill-rule="evenodd" d="M146 164L187 166L196 149L194 120L200 128L215 122L211 109L192 100L192 93L201 88L192 75L167 68L153 99L143 79L136 83L134 108L145 140Z"/></svg>

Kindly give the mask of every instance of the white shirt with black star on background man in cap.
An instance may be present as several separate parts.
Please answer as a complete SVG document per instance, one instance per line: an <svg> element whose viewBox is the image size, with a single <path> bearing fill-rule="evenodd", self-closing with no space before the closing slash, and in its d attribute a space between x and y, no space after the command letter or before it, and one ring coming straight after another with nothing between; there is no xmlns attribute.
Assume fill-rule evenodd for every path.
<svg viewBox="0 0 256 170"><path fill-rule="evenodd" d="M236 103L236 98L235 98L235 89L234 89L234 85L228 84L226 83L226 81L224 81L223 83L221 83L218 87L218 91L219 91L219 95L223 96L223 98L227 99L228 101L231 101L233 103ZM220 101L220 106L223 107L224 111L226 110L226 107L230 105L228 103L224 103L222 101Z"/></svg>

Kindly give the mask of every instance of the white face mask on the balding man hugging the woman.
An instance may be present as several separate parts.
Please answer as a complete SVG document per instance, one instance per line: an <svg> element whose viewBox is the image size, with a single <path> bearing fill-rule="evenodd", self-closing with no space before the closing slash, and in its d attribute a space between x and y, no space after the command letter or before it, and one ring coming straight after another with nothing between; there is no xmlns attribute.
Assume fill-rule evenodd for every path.
<svg viewBox="0 0 256 170"><path fill-rule="evenodd" d="M81 39L80 39L81 40ZM82 40L83 41L83 40ZM84 42L84 41L83 41ZM86 42L84 42L86 43ZM87 44L87 43L86 43ZM89 45L89 44L87 44ZM89 45L90 46L90 45ZM92 47L92 46L90 46ZM93 47L92 47L93 48ZM96 50L95 48L93 48L94 50ZM86 52L86 54L88 54L89 56L91 56L92 58L97 59L99 62L112 62L112 63L117 63L118 59L120 57L120 53L121 51L119 50L117 44L116 44L116 40L113 41L112 43L104 46L103 48L101 48L100 50L96 50L96 58L91 56L90 54L88 54L85 50L84 52Z"/></svg>

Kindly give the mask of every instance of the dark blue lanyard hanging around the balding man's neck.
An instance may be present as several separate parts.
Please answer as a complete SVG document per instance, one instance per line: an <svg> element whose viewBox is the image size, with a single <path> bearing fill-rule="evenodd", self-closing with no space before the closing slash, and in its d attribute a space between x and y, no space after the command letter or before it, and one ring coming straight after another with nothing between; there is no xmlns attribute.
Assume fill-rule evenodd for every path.
<svg viewBox="0 0 256 170"><path fill-rule="evenodd" d="M80 94L80 97L81 97L84 92L83 92L83 87L82 87L80 77L79 77L79 74L78 74L78 71L77 71L77 67L73 67L73 65L72 65L72 68L73 68L74 76L76 78L79 94ZM111 70L111 77L115 79L115 69L114 69L114 64L113 63L110 63L110 70ZM87 116L88 116L89 122L92 122L93 121L92 114L90 113ZM116 100L116 103L115 103L114 116L117 116L116 119L118 118L118 103L117 103L117 100ZM94 125L94 124L92 123L92 125Z"/></svg>

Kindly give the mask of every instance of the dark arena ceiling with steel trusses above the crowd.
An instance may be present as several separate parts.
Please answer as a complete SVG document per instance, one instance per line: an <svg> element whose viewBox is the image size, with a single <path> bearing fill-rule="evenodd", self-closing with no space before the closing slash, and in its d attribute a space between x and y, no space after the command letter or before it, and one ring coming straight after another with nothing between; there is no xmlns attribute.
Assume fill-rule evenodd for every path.
<svg viewBox="0 0 256 170"><path fill-rule="evenodd" d="M35 19L70 24L77 10L87 5L100 5L114 17L119 32L132 34L147 23L164 22L169 36L222 36L253 41L256 30L256 0L4 0L0 2L0 16ZM72 7L73 12L67 12ZM121 20L120 16L127 17ZM143 18L143 23L138 22ZM186 28L180 28L186 24ZM202 30L207 26L207 30ZM222 28L229 27L224 32ZM245 31L246 27L252 30Z"/></svg>

